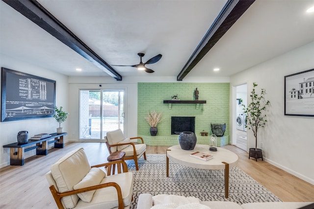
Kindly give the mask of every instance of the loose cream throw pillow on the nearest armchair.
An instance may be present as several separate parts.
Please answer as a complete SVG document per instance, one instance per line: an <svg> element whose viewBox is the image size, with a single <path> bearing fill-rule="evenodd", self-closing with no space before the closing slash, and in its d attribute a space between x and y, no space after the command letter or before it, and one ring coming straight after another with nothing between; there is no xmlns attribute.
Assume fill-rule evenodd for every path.
<svg viewBox="0 0 314 209"><path fill-rule="evenodd" d="M104 177L105 177L105 172L103 170L101 170L98 167L93 167L86 174L86 176L82 179L82 181L80 181L78 184L73 186L73 188L74 189L79 189L79 188L85 188L85 187L88 187L88 186L99 185L99 183L104 179ZM82 201L84 201L86 203L89 203L92 200L95 191L96 190L79 193L78 197Z"/></svg>

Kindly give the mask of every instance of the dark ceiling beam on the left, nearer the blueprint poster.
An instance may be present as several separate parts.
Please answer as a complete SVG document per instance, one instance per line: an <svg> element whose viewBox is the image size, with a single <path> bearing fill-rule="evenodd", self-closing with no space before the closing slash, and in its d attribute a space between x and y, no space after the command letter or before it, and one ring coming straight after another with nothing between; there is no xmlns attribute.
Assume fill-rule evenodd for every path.
<svg viewBox="0 0 314 209"><path fill-rule="evenodd" d="M33 23L46 30L52 36L57 38L66 46L75 50L85 59L96 65L105 73L115 78L117 81L122 80L122 76L108 65L99 55L84 44L74 33L65 25L58 21L49 11L47 11L36 0L3 0L13 9L20 12Z"/></svg>

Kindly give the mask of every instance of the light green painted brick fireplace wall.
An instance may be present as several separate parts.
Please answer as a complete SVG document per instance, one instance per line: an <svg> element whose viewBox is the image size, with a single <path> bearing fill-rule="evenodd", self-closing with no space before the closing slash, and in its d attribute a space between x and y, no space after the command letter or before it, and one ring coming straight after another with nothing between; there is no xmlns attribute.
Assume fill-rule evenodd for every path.
<svg viewBox="0 0 314 209"><path fill-rule="evenodd" d="M199 100L206 104L163 104L177 95L181 100L194 100L195 89L199 91ZM195 134L197 143L209 144L210 123L226 123L226 132L218 139L218 145L229 143L229 83L138 83L137 133L148 145L178 144L178 135L171 135L171 116L195 116ZM148 111L161 112L162 121L157 125L156 137L150 135L150 125L145 120ZM209 132L201 136L200 132Z"/></svg>

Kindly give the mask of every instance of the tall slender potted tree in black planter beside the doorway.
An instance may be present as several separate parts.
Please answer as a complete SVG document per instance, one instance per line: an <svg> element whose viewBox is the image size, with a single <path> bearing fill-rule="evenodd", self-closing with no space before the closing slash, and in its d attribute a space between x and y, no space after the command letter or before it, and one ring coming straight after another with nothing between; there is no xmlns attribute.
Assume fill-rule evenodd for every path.
<svg viewBox="0 0 314 209"><path fill-rule="evenodd" d="M266 120L266 114L264 114L264 110L266 109L266 106L269 105L269 101L265 101L264 99L264 93L265 90L262 89L261 93L258 94L255 91L255 87L258 85L256 83L253 83L253 90L250 94L251 97L251 103L245 107L244 104L242 106L244 107L244 113L247 115L246 117L246 124L245 127L247 127L249 130L251 129L253 131L254 137L255 137L255 148L249 149L249 159L250 157L257 159L262 158L262 149L257 148L257 137L258 137L258 130L259 128L262 128L265 126L267 120ZM242 101L241 101L242 102Z"/></svg>

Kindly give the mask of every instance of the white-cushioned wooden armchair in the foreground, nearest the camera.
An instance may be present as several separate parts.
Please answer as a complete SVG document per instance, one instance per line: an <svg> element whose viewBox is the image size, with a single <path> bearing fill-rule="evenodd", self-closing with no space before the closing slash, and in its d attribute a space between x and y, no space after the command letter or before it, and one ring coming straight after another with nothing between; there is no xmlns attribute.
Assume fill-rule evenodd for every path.
<svg viewBox="0 0 314 209"><path fill-rule="evenodd" d="M124 173L106 176L99 168L114 163L122 163ZM59 209L129 209L133 199L133 174L127 164L114 161L90 166L83 148L52 164L46 178Z"/></svg>

